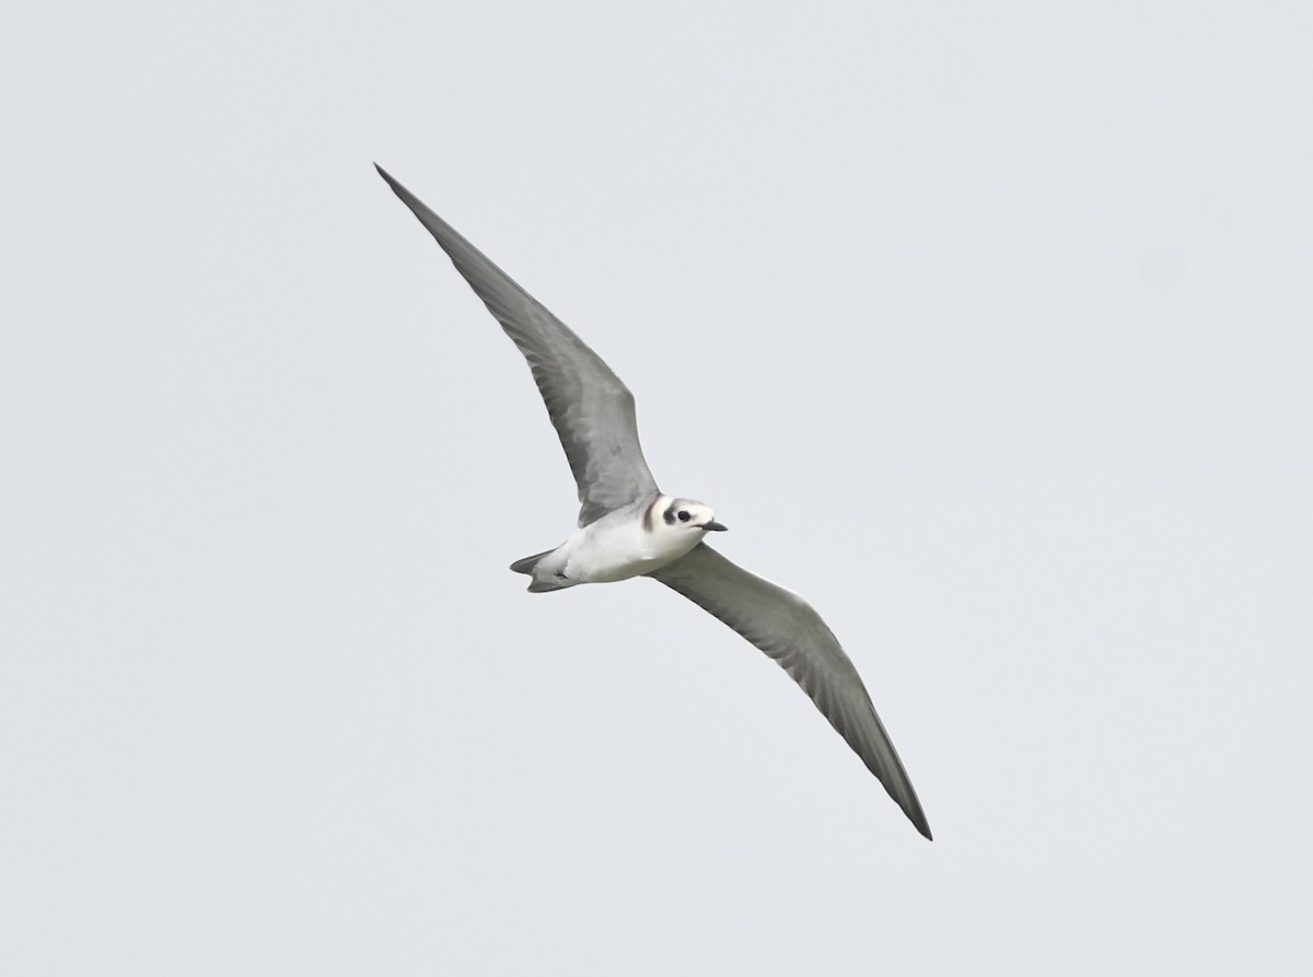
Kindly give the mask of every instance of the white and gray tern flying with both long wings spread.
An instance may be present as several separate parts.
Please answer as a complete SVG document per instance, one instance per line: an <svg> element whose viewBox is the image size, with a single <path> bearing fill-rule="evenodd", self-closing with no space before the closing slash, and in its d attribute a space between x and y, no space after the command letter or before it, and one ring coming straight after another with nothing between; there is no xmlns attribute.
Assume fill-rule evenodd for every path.
<svg viewBox="0 0 1313 977"><path fill-rule="evenodd" d="M793 591L706 545L725 532L706 504L656 487L638 443L634 397L569 326L387 171L379 176L437 240L524 355L579 490L578 531L511 563L530 594L650 576L764 651L811 697L927 839L934 835L871 695L834 632Z"/></svg>

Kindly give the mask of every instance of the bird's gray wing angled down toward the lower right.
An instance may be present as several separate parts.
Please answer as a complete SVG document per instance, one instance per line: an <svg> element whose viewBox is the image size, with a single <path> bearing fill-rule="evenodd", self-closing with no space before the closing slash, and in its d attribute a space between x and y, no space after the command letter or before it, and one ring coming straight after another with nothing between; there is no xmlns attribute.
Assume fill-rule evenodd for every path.
<svg viewBox="0 0 1313 977"><path fill-rule="evenodd" d="M709 611L780 664L926 838L930 822L852 659L811 605L706 544L650 576Z"/></svg>

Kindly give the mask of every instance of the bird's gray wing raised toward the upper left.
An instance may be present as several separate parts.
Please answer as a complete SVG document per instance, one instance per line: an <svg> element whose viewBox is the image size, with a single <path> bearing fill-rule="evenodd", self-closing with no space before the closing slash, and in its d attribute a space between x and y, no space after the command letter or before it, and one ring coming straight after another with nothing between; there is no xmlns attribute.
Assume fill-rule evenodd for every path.
<svg viewBox="0 0 1313 977"><path fill-rule="evenodd" d="M655 494L634 419L634 395L601 357L511 276L376 164L529 361L579 486L579 525Z"/></svg>

